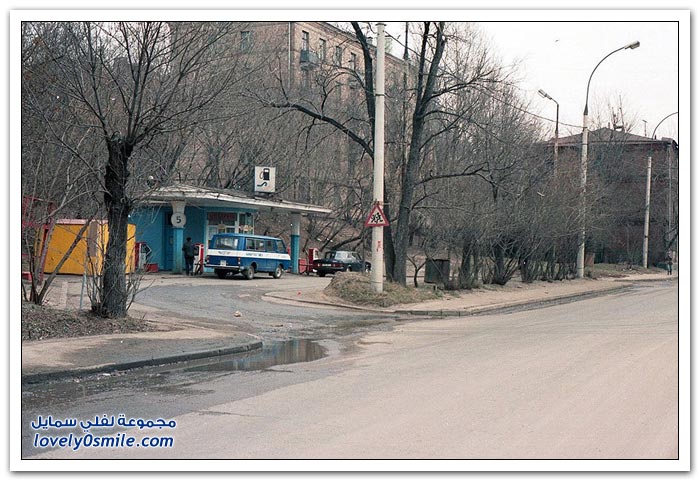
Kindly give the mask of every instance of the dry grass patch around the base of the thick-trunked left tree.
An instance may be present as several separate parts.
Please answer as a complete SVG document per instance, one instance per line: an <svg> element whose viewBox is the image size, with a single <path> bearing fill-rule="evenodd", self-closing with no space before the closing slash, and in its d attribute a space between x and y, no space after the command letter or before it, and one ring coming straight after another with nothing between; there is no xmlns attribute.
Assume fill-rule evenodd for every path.
<svg viewBox="0 0 700 481"><path fill-rule="evenodd" d="M148 322L133 317L104 319L89 311L54 309L22 302L22 340L122 334L156 330Z"/></svg>

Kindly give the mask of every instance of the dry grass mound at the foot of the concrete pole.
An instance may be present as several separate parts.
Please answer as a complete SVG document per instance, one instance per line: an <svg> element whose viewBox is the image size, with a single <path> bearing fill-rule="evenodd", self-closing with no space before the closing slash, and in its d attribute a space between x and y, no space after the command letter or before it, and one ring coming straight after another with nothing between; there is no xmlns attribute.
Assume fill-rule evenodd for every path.
<svg viewBox="0 0 700 481"><path fill-rule="evenodd" d="M336 274L324 293L352 304L378 307L428 301L442 297L442 293L437 290L403 287L393 282L385 282L384 292L376 293L370 285L369 275L357 272Z"/></svg>

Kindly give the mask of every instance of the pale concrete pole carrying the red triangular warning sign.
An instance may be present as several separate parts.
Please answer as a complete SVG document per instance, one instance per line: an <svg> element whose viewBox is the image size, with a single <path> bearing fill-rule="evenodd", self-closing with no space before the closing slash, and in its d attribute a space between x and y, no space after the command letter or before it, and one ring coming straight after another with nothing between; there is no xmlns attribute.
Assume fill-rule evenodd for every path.
<svg viewBox="0 0 700 481"><path fill-rule="evenodd" d="M384 27L377 23L377 78L374 87L374 204L384 205ZM372 227L372 272L374 292L384 290L384 227Z"/></svg>

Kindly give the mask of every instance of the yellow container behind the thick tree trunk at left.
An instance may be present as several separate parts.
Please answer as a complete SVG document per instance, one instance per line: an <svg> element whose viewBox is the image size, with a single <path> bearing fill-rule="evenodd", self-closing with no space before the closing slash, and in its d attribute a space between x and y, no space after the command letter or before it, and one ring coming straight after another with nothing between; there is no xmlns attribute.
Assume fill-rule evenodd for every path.
<svg viewBox="0 0 700 481"><path fill-rule="evenodd" d="M56 270L64 254L70 249L75 239L80 235L80 230L85 225L83 219L61 219L54 226L49 246L46 251L44 272L51 273ZM134 271L136 225L127 226L126 240L126 272ZM109 227L106 221L92 221L80 235L80 240L71 252L66 262L63 263L59 274L100 274L104 255L107 251L109 240Z"/></svg>

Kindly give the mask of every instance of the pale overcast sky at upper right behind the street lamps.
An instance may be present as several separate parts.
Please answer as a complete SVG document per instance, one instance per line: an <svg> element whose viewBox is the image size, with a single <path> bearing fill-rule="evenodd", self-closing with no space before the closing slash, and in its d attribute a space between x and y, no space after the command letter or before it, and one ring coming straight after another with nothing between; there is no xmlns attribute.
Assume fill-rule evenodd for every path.
<svg viewBox="0 0 700 481"><path fill-rule="evenodd" d="M647 135L678 111L678 24L674 22L488 22L481 24L508 63L520 62L521 86L534 111L554 118L556 105L537 95L543 89L560 105L560 122L582 124L586 84L596 64L631 42L637 49L607 58L591 80L589 115L612 121L611 105L622 106L630 131ZM620 101L621 99L621 101ZM561 125L561 124L560 124ZM678 136L678 116L659 125L656 137ZM580 128L560 126L563 134Z"/></svg>

